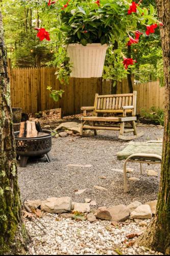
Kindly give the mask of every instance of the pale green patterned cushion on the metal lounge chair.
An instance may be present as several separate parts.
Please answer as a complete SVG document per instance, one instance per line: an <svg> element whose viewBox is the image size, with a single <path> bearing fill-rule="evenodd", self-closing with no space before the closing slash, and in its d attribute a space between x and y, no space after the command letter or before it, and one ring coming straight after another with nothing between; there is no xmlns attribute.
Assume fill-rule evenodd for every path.
<svg viewBox="0 0 170 256"><path fill-rule="evenodd" d="M162 156L162 143L132 142L117 153L118 160L124 160L133 154L156 154ZM143 157L142 157L143 158ZM155 160L155 159L150 159Z"/></svg>

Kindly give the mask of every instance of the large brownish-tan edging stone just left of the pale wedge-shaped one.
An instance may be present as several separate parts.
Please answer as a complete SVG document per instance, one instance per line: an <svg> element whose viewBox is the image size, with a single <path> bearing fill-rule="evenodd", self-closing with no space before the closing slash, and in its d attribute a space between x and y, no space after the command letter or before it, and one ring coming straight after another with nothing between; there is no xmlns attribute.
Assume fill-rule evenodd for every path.
<svg viewBox="0 0 170 256"><path fill-rule="evenodd" d="M124 204L119 204L108 208L112 221L126 221L129 218L130 210Z"/></svg>

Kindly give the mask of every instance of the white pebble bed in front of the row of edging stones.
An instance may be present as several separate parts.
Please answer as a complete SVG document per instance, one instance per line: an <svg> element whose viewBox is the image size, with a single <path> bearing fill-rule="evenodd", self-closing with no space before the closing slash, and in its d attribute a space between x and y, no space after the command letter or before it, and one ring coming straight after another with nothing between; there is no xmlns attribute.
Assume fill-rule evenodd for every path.
<svg viewBox="0 0 170 256"><path fill-rule="evenodd" d="M76 222L54 214L44 214L41 222L46 226L45 235L33 222L26 221L32 237L30 255L117 255L116 249L122 255L161 255L144 247L130 246L136 238L127 239L127 235L142 230L135 222L115 228L109 221Z"/></svg>

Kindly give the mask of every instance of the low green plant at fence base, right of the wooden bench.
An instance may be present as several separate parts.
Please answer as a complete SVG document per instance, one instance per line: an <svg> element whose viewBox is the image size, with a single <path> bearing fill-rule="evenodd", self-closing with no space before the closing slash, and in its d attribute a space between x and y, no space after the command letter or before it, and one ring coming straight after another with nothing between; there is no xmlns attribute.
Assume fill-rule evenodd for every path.
<svg viewBox="0 0 170 256"><path fill-rule="evenodd" d="M145 110L142 110L141 115L144 118L150 119L152 122L159 123L160 125L164 125L164 111L155 108L154 106L151 108L151 112L148 113Z"/></svg>

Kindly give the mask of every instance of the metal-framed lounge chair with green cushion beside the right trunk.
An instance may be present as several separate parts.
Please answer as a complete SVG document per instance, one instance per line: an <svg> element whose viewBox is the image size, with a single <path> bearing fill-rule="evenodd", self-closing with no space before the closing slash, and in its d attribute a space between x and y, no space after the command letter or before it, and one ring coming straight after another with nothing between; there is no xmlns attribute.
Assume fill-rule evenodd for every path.
<svg viewBox="0 0 170 256"><path fill-rule="evenodd" d="M124 162L124 188L125 193L128 192L127 183L127 162L140 163L140 174L143 174L143 163L161 164L162 160L162 141L148 141L148 142L130 142L123 151L117 153L118 160L125 160Z"/></svg>

